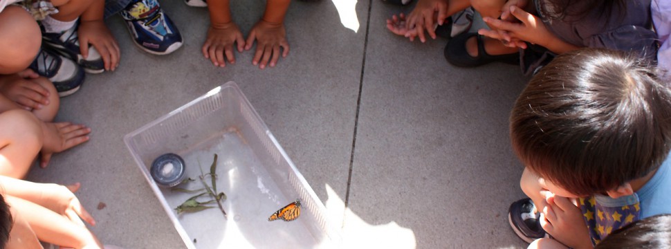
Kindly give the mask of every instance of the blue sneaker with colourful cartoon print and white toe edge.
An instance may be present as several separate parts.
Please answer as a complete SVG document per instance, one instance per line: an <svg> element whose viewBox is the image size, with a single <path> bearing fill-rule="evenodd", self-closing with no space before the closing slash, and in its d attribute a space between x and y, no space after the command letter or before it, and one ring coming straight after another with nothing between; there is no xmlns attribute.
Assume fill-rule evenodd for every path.
<svg viewBox="0 0 671 249"><path fill-rule="evenodd" d="M182 46L182 36L156 0L136 0L121 10L133 41L147 53L167 55Z"/></svg>

